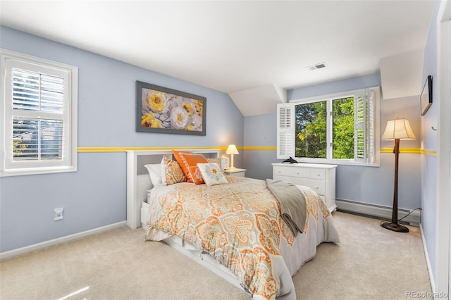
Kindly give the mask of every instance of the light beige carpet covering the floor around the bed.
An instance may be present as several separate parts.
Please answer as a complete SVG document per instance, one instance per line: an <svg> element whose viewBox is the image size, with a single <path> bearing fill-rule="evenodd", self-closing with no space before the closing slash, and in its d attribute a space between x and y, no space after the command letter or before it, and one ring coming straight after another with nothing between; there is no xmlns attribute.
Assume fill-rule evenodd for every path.
<svg viewBox="0 0 451 300"><path fill-rule="evenodd" d="M418 227L333 213L340 244L321 244L293 277L298 299L406 299L431 285ZM121 227L0 262L0 299L249 299L143 230Z"/></svg>

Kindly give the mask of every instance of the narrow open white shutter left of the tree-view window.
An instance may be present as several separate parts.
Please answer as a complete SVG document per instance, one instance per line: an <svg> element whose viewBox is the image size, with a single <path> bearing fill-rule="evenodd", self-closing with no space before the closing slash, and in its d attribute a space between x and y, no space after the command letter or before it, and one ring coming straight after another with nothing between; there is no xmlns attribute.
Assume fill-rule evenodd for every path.
<svg viewBox="0 0 451 300"><path fill-rule="evenodd" d="M277 158L295 157L295 104L277 105Z"/></svg>

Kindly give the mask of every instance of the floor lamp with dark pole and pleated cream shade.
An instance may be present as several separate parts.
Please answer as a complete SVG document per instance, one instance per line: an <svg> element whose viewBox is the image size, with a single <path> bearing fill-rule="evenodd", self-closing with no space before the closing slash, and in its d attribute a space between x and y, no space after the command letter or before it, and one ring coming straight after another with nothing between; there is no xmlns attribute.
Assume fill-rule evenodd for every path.
<svg viewBox="0 0 451 300"><path fill-rule="evenodd" d="M400 156L400 139L415 139L409 120L400 118L389 120L382 139L395 140L395 148L393 149L393 152L395 153L395 188L393 192L392 221L382 223L381 226L397 232L409 232L409 228L397 223L397 170L398 159Z"/></svg>

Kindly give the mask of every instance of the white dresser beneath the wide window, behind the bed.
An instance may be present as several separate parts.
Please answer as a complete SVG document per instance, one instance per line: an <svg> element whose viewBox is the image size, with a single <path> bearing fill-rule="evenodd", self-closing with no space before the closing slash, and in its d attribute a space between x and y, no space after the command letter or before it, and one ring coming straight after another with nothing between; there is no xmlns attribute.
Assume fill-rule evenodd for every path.
<svg viewBox="0 0 451 300"><path fill-rule="evenodd" d="M305 185L317 192L329 211L335 211L335 169L337 165L319 163L273 163L273 179Z"/></svg>

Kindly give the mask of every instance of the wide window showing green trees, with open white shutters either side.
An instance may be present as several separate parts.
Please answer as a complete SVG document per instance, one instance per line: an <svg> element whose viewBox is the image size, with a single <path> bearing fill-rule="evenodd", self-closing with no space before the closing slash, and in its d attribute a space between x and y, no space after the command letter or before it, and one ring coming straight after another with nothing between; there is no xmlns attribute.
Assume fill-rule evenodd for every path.
<svg viewBox="0 0 451 300"><path fill-rule="evenodd" d="M278 104L278 158L378 164L379 88Z"/></svg>

